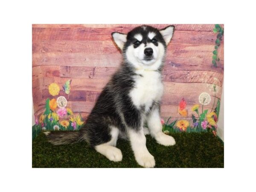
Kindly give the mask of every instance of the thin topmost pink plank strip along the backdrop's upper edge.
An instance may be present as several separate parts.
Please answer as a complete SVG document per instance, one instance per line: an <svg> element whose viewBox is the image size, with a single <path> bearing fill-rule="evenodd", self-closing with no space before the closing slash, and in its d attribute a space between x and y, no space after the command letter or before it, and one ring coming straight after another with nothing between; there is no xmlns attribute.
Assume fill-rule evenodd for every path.
<svg viewBox="0 0 256 192"><path fill-rule="evenodd" d="M132 29L145 24L32 24L32 27L38 28L60 28L60 27L90 27L90 28L128 28ZM214 24L148 24L149 26L163 29L166 26L174 25L175 30L180 31L212 31ZM223 25L221 25L223 26Z"/></svg>

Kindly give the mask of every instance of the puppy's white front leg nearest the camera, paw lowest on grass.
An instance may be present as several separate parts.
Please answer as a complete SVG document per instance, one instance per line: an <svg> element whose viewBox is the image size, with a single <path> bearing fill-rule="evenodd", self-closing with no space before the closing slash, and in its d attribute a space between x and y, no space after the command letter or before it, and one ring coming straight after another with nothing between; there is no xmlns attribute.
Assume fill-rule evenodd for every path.
<svg viewBox="0 0 256 192"><path fill-rule="evenodd" d="M154 167L155 160L146 147L146 137L143 129L140 131L129 130L128 134L137 163L143 167Z"/></svg>

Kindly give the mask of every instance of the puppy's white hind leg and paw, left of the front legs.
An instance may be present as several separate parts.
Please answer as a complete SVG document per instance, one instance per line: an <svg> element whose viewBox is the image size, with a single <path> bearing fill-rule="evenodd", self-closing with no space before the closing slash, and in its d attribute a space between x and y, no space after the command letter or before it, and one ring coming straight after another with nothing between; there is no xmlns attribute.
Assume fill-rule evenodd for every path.
<svg viewBox="0 0 256 192"><path fill-rule="evenodd" d="M111 161L122 161L122 152L116 148L116 141L119 135L119 129L111 126L111 140L108 143L103 143L95 146L95 150L103 154Z"/></svg>

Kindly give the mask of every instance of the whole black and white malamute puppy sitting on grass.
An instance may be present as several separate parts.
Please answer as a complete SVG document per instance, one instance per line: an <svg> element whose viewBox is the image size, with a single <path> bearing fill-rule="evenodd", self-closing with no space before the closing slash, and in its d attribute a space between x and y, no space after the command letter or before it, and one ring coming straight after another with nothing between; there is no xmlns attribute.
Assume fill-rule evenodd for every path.
<svg viewBox="0 0 256 192"><path fill-rule="evenodd" d="M161 145L175 145L173 137L163 134L160 122L161 72L173 32L174 26L160 30L139 26L128 34L113 32L122 50L121 67L103 89L84 127L80 131L47 132L49 142L61 145L85 140L109 160L121 161L122 152L115 146L122 137L131 142L140 166L154 167L145 134L151 134ZM145 124L148 128L143 128Z"/></svg>

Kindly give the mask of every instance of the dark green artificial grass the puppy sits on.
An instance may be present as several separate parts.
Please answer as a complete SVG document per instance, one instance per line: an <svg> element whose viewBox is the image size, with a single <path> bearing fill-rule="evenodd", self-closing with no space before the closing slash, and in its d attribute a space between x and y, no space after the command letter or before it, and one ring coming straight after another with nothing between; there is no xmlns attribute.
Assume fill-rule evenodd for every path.
<svg viewBox="0 0 256 192"><path fill-rule="evenodd" d="M154 156L158 168L223 168L224 143L212 133L173 133L174 146L163 146L150 136L147 138L148 151ZM112 162L90 148L85 142L72 145L52 145L43 133L32 141L32 167L34 168L130 168L140 167L133 155L130 144L117 141L122 151L122 161Z"/></svg>

